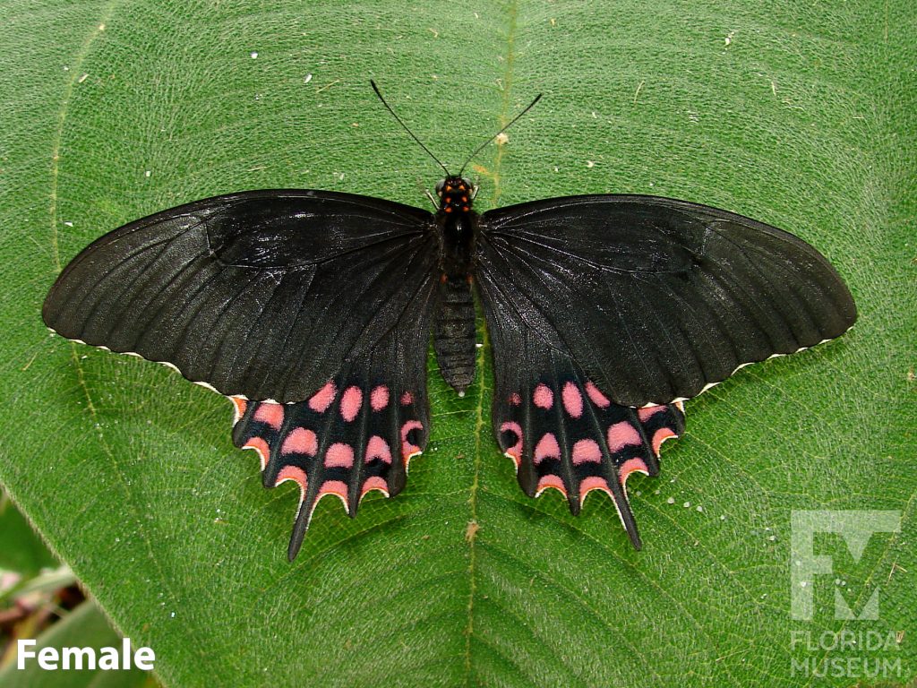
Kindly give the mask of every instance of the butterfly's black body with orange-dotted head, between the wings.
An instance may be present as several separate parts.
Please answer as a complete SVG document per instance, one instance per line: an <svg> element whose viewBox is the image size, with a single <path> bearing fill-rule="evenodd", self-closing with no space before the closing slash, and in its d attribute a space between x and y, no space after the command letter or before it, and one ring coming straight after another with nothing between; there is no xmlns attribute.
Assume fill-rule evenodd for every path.
<svg viewBox="0 0 917 688"><path fill-rule="evenodd" d="M474 379L474 299L471 295L471 257L478 230L472 210L471 183L449 176L436 185L440 205L440 277L436 290L433 346L446 382L458 393Z"/></svg>

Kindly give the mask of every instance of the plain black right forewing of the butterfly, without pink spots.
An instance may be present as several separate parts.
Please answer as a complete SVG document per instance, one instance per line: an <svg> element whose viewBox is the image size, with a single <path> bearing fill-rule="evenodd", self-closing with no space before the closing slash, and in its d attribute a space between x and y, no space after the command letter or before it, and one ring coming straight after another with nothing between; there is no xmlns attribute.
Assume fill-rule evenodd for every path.
<svg viewBox="0 0 917 688"><path fill-rule="evenodd" d="M503 304L495 317L518 319L628 406L691 398L743 364L837 337L856 320L837 272L801 239L653 196L489 211L477 278L485 306Z"/></svg>

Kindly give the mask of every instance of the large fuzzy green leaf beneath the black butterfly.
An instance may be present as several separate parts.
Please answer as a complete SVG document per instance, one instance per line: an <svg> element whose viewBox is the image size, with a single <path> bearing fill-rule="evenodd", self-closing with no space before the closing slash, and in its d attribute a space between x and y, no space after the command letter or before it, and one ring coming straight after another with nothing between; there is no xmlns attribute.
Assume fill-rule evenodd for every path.
<svg viewBox="0 0 917 688"><path fill-rule="evenodd" d="M910 3L35 0L5 15L0 480L167 685L914 677ZM431 362L432 440L404 493L354 520L322 502L288 564L297 495L261 489L226 401L42 326L78 250L183 201L303 187L424 205L436 165L370 77L452 166L545 94L471 166L481 209L686 198L790 229L850 284L844 338L687 405L662 475L628 483L643 551L603 498L573 517L521 493L492 439L485 349L464 399ZM892 510L900 532L861 558L816 538L833 573L813 578L812 620L793 620L791 515L818 509ZM858 614L877 588L877 620L834 617L835 594ZM863 629L893 641L823 641ZM801 664L850 658L898 670Z"/></svg>

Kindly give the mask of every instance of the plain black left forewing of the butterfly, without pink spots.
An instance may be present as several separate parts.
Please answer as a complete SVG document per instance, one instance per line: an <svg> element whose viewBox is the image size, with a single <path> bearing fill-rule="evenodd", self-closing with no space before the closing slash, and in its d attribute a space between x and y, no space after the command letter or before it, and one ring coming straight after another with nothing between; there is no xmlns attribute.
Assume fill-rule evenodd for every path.
<svg viewBox="0 0 917 688"><path fill-rule="evenodd" d="M42 315L64 337L171 363L222 394L299 402L392 327L419 327L423 314L403 316L430 307L436 247L433 216L408 205L216 196L97 239Z"/></svg>

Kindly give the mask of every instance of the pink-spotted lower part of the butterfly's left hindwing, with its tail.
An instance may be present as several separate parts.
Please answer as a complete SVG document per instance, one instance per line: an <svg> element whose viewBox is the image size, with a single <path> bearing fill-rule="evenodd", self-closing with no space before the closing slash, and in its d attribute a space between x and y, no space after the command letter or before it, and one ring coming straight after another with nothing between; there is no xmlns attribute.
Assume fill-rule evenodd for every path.
<svg viewBox="0 0 917 688"><path fill-rule="evenodd" d="M315 505L334 494L356 516L372 490L402 491L408 463L426 443L423 390L339 375L296 404L249 402L236 406L233 441L255 449L265 487L298 483L300 505L288 556L296 556Z"/></svg>

